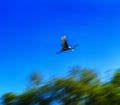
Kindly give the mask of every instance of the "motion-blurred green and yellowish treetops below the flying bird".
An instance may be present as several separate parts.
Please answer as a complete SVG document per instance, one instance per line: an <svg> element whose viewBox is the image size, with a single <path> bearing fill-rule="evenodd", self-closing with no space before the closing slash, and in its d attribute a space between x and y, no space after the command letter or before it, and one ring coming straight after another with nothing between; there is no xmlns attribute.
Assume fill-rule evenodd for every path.
<svg viewBox="0 0 120 105"><path fill-rule="evenodd" d="M41 83L39 73L30 76L31 87L21 94L6 93L3 105L120 105L120 70L101 83L93 70L75 67L69 76ZM55 104L54 104L55 105Z"/></svg>

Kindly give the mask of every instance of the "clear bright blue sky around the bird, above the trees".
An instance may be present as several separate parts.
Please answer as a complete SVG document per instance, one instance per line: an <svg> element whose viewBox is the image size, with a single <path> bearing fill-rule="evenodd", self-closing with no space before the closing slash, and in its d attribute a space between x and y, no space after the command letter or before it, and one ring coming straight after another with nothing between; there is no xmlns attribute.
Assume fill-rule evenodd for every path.
<svg viewBox="0 0 120 105"><path fill-rule="evenodd" d="M74 52L56 55L66 35ZM120 67L120 1L5 0L0 3L0 94L20 92L29 75L63 76L69 66Z"/></svg>

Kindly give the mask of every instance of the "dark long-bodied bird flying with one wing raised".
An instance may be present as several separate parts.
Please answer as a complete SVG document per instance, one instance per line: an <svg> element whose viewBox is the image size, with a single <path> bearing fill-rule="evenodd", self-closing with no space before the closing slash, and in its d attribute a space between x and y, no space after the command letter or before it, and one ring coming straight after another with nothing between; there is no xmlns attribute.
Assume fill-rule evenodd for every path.
<svg viewBox="0 0 120 105"><path fill-rule="evenodd" d="M57 52L56 54L59 54L63 51L74 50L75 47L79 46L78 44L74 45L73 47L68 46L66 36L62 36L61 42L62 42L62 49L61 49L61 51Z"/></svg>

